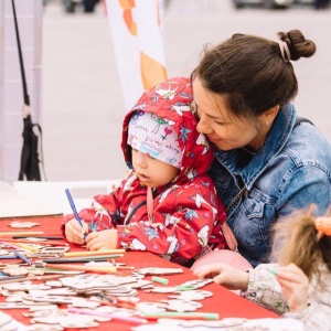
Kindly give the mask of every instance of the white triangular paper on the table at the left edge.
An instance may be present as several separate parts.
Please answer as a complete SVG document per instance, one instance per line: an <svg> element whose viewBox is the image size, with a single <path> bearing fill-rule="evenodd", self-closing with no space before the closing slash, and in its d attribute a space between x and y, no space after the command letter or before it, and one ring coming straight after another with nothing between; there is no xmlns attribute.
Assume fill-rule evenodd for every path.
<svg viewBox="0 0 331 331"><path fill-rule="evenodd" d="M15 191L0 182L0 218L62 215L57 207L45 204Z"/></svg>

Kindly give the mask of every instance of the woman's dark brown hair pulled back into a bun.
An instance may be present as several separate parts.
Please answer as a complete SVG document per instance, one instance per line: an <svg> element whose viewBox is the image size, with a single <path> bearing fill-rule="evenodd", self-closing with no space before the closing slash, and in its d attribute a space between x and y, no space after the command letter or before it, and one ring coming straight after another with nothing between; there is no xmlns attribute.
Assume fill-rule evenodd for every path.
<svg viewBox="0 0 331 331"><path fill-rule="evenodd" d="M310 57L316 52L312 41L299 30L279 32L289 49L291 61ZM291 62L284 60L278 42L247 34L234 34L227 41L205 50L192 73L203 86L227 96L229 111L254 118L285 105L298 93Z"/></svg>

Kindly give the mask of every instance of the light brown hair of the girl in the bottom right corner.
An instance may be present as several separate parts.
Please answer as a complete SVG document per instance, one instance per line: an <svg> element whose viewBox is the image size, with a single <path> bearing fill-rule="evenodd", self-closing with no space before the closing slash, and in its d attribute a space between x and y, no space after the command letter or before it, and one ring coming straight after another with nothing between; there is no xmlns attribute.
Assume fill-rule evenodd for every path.
<svg viewBox="0 0 331 331"><path fill-rule="evenodd" d="M320 276L319 265L324 263L331 273L331 237L322 236L318 241L314 225L314 206L298 211L278 221L274 229L274 249L271 259L279 265L295 264L311 280ZM330 216L330 210L327 216Z"/></svg>

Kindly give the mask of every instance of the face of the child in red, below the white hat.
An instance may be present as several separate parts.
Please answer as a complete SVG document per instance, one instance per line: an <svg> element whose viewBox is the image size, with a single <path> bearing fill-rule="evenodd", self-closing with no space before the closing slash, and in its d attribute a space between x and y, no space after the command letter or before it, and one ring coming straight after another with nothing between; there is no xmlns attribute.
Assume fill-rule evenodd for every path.
<svg viewBox="0 0 331 331"><path fill-rule="evenodd" d="M178 168L152 159L137 149L132 149L132 166L139 180L150 188L159 188L170 183L180 171Z"/></svg>

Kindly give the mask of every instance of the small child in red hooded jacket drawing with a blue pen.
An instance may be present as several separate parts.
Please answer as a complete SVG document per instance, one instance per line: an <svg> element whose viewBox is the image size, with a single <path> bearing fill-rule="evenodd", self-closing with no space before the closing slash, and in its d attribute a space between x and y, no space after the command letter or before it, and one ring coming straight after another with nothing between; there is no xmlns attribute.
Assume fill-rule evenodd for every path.
<svg viewBox="0 0 331 331"><path fill-rule="evenodd" d="M168 79L145 92L124 120L121 147L130 168L108 195L67 215L67 241L89 250L149 250L190 265L224 248L225 211L207 170L213 148L196 131L191 82Z"/></svg>

